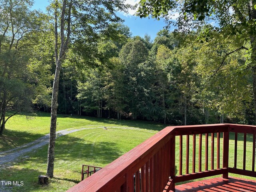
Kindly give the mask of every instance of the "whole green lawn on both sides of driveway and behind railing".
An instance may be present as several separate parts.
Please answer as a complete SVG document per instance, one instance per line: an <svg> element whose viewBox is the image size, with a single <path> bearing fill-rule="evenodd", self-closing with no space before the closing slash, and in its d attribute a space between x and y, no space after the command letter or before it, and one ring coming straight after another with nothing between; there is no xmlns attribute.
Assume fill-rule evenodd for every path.
<svg viewBox="0 0 256 192"><path fill-rule="evenodd" d="M27 118L24 114L10 119L6 125L3 139L0 138L0 149L2 151L21 146L26 142L36 140L37 138L49 132L50 115L46 113L37 114L32 118ZM152 122L131 121L131 120L112 120L98 119L80 116L58 116L57 130L67 128L92 129L81 130L71 134L61 136L56 140L56 156L54 165L54 178L50 180L48 186L40 186L37 183L37 177L45 174L47 165L47 149L44 146L36 152L26 154L26 158L19 158L18 162L13 162L8 166L0 168L0 181L23 181L23 186L8 188L11 191L65 191L80 181L80 171L82 164L94 166L106 166L125 152L134 148L147 138L153 136L156 132L165 127L163 124L154 124ZM107 126L108 130L98 128ZM24 138L23 138L24 137ZM215 138L216 139L216 138ZM234 135L230 134L230 166L234 164ZM248 135L247 167L250 170L252 166L252 138ZM197 136L198 141L198 136ZM185 142L183 138L183 170L185 170ZM192 142L192 136L190 137ZM203 136L202 162L204 162L204 143ZM210 136L209 136L209 160L210 160ZM179 139L176 138L176 165L178 165ZM221 145L222 146L222 140ZM198 147L198 146L197 146ZM216 148L216 140L215 140ZM196 150L198 157L198 150ZM238 135L238 168L242 166L243 136ZM221 149L222 156L222 149ZM190 170L192 169L192 144L190 144ZM216 154L215 154L216 157ZM216 159L215 159L216 163ZM198 166L198 162L196 162ZM222 163L221 163L222 165ZM216 166L215 166L216 167ZM210 161L209 161L210 168ZM204 170L204 165L202 165ZM177 170L178 171L178 170ZM232 175L232 174L230 174ZM237 176L237 175L233 175ZM249 178L242 176L243 178ZM251 179L251 178L249 178ZM0 188L1 191L1 188Z"/></svg>

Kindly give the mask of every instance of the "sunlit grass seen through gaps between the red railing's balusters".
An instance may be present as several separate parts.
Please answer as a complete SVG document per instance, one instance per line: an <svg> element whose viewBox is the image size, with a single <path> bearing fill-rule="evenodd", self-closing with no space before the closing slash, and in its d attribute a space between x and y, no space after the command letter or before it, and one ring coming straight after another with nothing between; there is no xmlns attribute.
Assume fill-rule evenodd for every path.
<svg viewBox="0 0 256 192"><path fill-rule="evenodd" d="M234 132L230 132L229 135L229 162L228 166L229 167L234 167L234 141L235 134ZM252 134L247 134L246 136L246 170L252 170L252 139L253 135ZM182 174L186 174L186 140L187 136L182 136ZM176 141L176 151L175 151L175 162L176 162L176 175L179 175L180 171L180 136L176 136L175 138ZM189 136L189 173L192 173L192 159L193 159L193 136ZM214 161L213 161L213 168L217 169L217 134L214 134ZM211 152L212 151L212 136L211 134L208 134L208 168L206 167L206 136L205 134L202 134L202 171L205 170L211 170L212 167L212 159L211 159ZM238 144L237 144L237 164L236 167L238 169L243 169L243 155L244 155L244 134L238 134ZM195 158L195 169L196 172L199 171L199 135L196 135L196 158ZM220 168L223 166L223 134L220 133ZM255 164L256 168L256 164ZM221 176L221 175L220 175ZM234 177L240 177L240 178L247 178L251 180L255 180L253 177L249 176L243 176L243 175L238 175L238 174L231 174L229 173L229 176L234 176ZM213 176L216 177L216 176ZM209 177L209 178L213 178ZM200 178L198 180L205 180L207 178ZM186 182L180 182L178 184L183 184L183 183L188 183L192 182L195 180L190 180Z"/></svg>

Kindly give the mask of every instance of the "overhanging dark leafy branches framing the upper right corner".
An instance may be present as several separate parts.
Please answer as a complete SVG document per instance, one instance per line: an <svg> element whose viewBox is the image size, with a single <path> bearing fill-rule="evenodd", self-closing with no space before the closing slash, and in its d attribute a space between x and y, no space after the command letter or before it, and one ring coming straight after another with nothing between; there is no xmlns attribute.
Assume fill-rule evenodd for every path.
<svg viewBox="0 0 256 192"><path fill-rule="evenodd" d="M172 12L178 10L179 17L176 21L171 20ZM252 92L254 100L254 114L256 123L256 2L252 0L242 1L210 1L210 0L185 0L185 1L162 1L162 0L141 0L139 2L138 15L159 19L166 18L169 24L174 24L179 31L189 32L193 28L198 28L204 22L214 20L215 27L204 28L201 39L227 38L235 39L235 49L230 54L240 50L248 50L249 57L245 63L252 71ZM218 32L218 33L216 33ZM221 39L220 38L220 39ZM246 48L246 42L250 42ZM226 55L228 56L228 55ZM215 69L218 72L223 67L223 63Z"/></svg>

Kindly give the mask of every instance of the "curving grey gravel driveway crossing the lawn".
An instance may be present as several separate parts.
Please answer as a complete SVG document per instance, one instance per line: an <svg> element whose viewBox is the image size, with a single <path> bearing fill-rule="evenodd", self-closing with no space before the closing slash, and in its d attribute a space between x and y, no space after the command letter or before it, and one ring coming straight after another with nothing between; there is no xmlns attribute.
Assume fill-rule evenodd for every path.
<svg viewBox="0 0 256 192"><path fill-rule="evenodd" d="M60 131L56 132L56 138L66 135L66 134L73 133L73 132L77 132L77 131L81 131L81 130L85 130L85 129L96 129L96 128L103 128L103 126L94 127L92 125L92 126L88 126L87 128L79 128L79 129L73 129L73 130L70 130L70 129L60 130ZM108 127L108 128L144 130L144 129L140 129L140 128L128 128L128 127ZM144 130L144 131L155 133L154 131L150 131L150 130ZM48 142L49 142L49 134L47 134L33 142L22 145L20 147L16 147L16 148L8 150L8 151L0 152L0 165L8 163L8 162L14 162L18 157L24 155L27 152L36 150L36 149L48 144ZM26 156L24 156L24 158L26 158Z"/></svg>

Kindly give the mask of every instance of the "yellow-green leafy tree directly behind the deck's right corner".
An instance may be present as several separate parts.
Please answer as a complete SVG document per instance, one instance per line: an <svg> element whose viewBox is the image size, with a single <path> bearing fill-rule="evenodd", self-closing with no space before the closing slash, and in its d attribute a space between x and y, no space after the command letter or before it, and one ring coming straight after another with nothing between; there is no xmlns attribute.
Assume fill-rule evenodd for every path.
<svg viewBox="0 0 256 192"><path fill-rule="evenodd" d="M215 40L193 44L197 60L195 72L201 78L196 97L205 109L243 119L253 98L252 72L245 64L246 50L240 49L227 57L226 54L236 46L233 39L227 38L222 42L222 45L216 44ZM220 65L221 70L216 72Z"/></svg>

